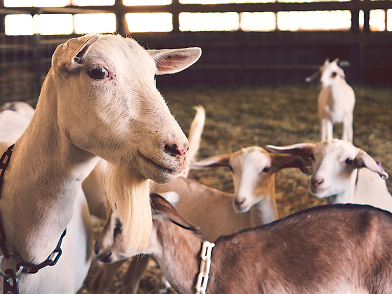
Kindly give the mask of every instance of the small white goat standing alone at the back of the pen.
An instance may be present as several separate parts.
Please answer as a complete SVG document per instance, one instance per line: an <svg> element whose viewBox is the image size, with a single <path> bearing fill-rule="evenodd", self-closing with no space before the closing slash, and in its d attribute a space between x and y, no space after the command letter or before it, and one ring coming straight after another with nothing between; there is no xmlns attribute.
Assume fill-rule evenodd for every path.
<svg viewBox="0 0 392 294"><path fill-rule="evenodd" d="M333 139L333 124L343 123L343 140L352 143L355 94L345 81L344 71L338 66L338 61L339 59L335 59L329 62L327 58L319 71L307 77L306 81L321 75L322 89L317 100L321 140Z"/></svg>

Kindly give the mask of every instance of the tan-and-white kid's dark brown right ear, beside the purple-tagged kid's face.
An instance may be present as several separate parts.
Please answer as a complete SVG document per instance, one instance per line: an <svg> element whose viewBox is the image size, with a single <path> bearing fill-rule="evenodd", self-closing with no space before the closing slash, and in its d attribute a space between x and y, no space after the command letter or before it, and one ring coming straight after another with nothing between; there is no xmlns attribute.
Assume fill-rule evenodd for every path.
<svg viewBox="0 0 392 294"><path fill-rule="evenodd" d="M272 172L279 172L282 169L298 168L301 172L307 173L308 166L312 161L305 156L296 154L270 154Z"/></svg>

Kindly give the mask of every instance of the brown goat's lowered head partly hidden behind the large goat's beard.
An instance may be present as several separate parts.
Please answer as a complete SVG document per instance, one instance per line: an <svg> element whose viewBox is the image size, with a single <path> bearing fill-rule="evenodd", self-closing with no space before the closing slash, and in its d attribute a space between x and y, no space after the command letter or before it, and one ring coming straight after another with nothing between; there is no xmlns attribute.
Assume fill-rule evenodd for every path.
<svg viewBox="0 0 392 294"><path fill-rule="evenodd" d="M172 206L171 202L166 200L166 196L168 196L170 193L171 192L163 193L162 196L164 196L165 198L157 194L151 195L154 226L151 231L149 245L142 252L144 254L154 253L157 248L160 248L162 246L161 244L159 244L159 242L157 242L156 236L157 234L159 234L158 231L164 231L164 229L162 228L162 226L165 225L163 223L163 218L167 218L173 223L185 229L199 229L193 223L185 220L182 216L180 216ZM106 223L103 226L103 229L94 245L94 251L97 255L98 260L104 263L113 263L141 253L139 251L135 251L132 247L128 247L126 245L124 246L124 243L122 241L122 223L112 210L110 210L108 214L109 215L106 220Z"/></svg>

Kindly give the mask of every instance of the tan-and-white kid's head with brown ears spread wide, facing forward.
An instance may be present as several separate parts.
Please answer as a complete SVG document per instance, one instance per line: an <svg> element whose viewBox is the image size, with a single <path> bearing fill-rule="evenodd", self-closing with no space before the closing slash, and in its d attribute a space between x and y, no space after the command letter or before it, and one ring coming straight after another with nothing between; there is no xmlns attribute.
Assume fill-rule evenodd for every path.
<svg viewBox="0 0 392 294"><path fill-rule="evenodd" d="M240 212L248 211L264 197L274 193L275 172L294 167L306 172L306 163L300 156L273 154L257 146L212 156L192 164L191 168L225 166L230 169L233 177L234 204Z"/></svg>

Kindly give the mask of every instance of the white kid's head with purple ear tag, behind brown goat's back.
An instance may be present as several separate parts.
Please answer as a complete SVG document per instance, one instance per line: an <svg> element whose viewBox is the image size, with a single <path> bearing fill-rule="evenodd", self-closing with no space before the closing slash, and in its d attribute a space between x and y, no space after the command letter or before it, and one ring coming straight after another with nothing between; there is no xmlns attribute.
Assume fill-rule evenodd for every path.
<svg viewBox="0 0 392 294"><path fill-rule="evenodd" d="M319 198L345 193L355 183L358 169L368 168L383 179L388 178L388 173L381 170L364 150L343 140L333 139L317 144L300 143L284 147L269 145L267 148L276 153L309 157L313 166L310 188L313 195Z"/></svg>

